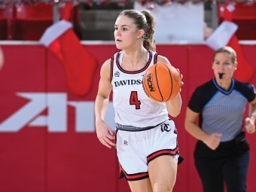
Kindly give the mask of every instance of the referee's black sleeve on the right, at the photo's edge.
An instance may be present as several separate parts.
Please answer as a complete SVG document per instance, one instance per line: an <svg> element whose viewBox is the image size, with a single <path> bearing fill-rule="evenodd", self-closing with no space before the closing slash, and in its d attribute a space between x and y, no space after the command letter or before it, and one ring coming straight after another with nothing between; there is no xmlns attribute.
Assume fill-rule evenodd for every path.
<svg viewBox="0 0 256 192"><path fill-rule="evenodd" d="M255 88L252 84L235 80L234 89L242 93L242 95L245 96L248 102L252 102L256 97Z"/></svg>

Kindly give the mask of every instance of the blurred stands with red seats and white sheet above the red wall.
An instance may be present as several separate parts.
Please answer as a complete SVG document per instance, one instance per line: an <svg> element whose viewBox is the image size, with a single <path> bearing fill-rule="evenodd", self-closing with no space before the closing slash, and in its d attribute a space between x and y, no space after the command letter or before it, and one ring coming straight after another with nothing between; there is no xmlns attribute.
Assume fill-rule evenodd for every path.
<svg viewBox="0 0 256 192"><path fill-rule="evenodd" d="M38 41L47 27L58 20L68 20L82 41L112 41L114 21L120 11L146 8L154 12L157 27L161 30L164 31L165 26L166 31L172 29L172 33L188 34L181 40L198 41L202 38L202 27L205 29L203 38L206 39L224 20L224 5L227 3L232 10L233 22L239 25L237 37L241 40L254 40L256 16L253 0L1 0L0 40ZM179 29L175 29L175 25ZM193 30L182 30L186 27L192 29L192 26L193 30L198 31L197 38L190 38L192 35L189 34ZM180 40L171 36L168 41Z"/></svg>

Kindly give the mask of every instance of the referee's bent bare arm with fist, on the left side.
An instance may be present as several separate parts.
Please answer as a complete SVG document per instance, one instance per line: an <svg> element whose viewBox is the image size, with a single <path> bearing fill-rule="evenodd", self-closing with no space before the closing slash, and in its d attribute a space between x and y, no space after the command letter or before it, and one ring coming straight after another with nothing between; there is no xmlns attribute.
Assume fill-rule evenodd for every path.
<svg viewBox="0 0 256 192"><path fill-rule="evenodd" d="M208 135L204 132L199 126L197 126L197 118L199 113L192 111L187 107L186 116L185 116L185 129L191 136L194 136L196 139L204 142L209 148L215 150L221 142L221 134L213 133Z"/></svg>

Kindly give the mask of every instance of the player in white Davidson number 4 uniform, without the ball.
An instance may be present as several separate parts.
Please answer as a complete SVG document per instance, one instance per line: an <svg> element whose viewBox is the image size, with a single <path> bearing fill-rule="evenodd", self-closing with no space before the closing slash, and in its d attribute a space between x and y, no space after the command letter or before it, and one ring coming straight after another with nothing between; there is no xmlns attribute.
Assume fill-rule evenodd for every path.
<svg viewBox="0 0 256 192"><path fill-rule="evenodd" d="M169 63L154 52L153 34L150 11L120 13L114 23L114 39L120 51L102 65L95 102L97 137L108 148L116 146L120 178L126 178L133 192L172 191L182 160L175 123L168 117L180 113L180 93L168 102L155 102L142 87L142 75L148 67L156 62ZM111 90L115 133L104 122Z"/></svg>

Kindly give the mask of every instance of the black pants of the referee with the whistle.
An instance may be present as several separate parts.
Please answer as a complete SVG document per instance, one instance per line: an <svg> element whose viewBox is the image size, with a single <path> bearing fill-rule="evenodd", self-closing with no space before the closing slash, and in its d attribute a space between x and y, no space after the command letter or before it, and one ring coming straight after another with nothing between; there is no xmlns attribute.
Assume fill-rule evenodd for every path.
<svg viewBox="0 0 256 192"><path fill-rule="evenodd" d="M212 150L198 141L194 160L203 183L204 192L245 192L249 165L249 145L246 140L237 143L221 142Z"/></svg>

